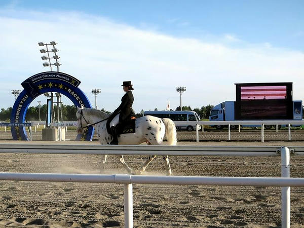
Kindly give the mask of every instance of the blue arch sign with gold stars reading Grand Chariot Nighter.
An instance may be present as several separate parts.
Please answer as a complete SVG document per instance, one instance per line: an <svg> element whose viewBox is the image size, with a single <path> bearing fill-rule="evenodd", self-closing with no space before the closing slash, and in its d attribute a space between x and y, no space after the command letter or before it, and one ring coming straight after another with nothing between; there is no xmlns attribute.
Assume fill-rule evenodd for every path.
<svg viewBox="0 0 304 228"><path fill-rule="evenodd" d="M47 92L57 92L69 98L75 106L92 108L91 103L84 92L78 88L81 82L62 72L42 72L33 75L21 83L24 90L17 97L11 114L11 127L14 140L29 140L25 127L17 123L24 123L29 104L37 97ZM75 113L76 115L76 113ZM78 134L76 140L92 140L94 128L89 127L84 134Z"/></svg>

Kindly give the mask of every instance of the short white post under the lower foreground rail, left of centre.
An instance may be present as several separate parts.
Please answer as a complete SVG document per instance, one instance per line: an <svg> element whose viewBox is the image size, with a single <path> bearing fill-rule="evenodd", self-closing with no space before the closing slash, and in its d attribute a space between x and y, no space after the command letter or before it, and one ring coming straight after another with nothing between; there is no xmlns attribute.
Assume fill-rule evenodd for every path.
<svg viewBox="0 0 304 228"><path fill-rule="evenodd" d="M124 184L125 227L133 227L133 188L132 184Z"/></svg>

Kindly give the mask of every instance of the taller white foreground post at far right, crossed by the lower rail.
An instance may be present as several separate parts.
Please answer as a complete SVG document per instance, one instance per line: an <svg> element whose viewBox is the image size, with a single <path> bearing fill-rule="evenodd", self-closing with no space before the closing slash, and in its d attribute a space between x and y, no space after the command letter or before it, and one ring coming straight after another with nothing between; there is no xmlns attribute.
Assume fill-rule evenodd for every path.
<svg viewBox="0 0 304 228"><path fill-rule="evenodd" d="M281 147L281 176L289 177L289 148L286 146ZM282 187L282 221L281 225L284 228L290 227L290 187Z"/></svg>

